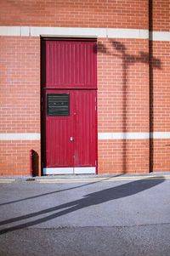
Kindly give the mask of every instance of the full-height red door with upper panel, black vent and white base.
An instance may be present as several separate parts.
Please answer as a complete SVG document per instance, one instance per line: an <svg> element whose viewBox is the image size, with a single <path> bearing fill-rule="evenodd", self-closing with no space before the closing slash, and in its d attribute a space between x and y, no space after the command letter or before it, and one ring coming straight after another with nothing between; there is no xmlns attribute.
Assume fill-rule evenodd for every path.
<svg viewBox="0 0 170 256"><path fill-rule="evenodd" d="M95 174L97 43L42 39L43 174Z"/></svg>

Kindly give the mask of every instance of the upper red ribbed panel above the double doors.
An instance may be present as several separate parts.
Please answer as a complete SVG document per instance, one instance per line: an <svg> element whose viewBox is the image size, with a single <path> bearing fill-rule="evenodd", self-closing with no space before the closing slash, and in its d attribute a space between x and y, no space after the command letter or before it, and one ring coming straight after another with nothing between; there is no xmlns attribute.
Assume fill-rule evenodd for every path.
<svg viewBox="0 0 170 256"><path fill-rule="evenodd" d="M43 88L97 88L97 43L42 40Z"/></svg>

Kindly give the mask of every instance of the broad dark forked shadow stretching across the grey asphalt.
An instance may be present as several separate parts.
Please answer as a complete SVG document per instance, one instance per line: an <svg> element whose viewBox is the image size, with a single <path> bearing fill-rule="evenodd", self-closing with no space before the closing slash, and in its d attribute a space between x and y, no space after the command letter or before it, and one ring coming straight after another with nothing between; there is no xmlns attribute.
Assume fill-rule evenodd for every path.
<svg viewBox="0 0 170 256"><path fill-rule="evenodd" d="M164 180L165 180L164 177L161 177L161 176L148 178L148 179L139 179L123 185L118 185L115 187L111 187L109 189L90 193L86 196L83 196L79 200L66 202L64 204L54 206L53 208L46 208L38 212L32 212L26 215L21 215L20 217L15 217L13 219L6 219L1 221L0 225L10 225L10 224L16 223L17 221L21 221L21 220L23 221L23 220L39 217L39 219L33 219L31 221L27 221L22 224L5 227L2 230L0 230L0 234L5 234L10 231L28 228L28 227L31 227L32 225L38 225L48 220L58 218L59 216L63 216L68 213L73 213L82 208L88 208L91 206L99 205L101 203L111 202L112 200L123 198L126 196L133 196L138 194L139 192L149 190L150 188L161 184L162 182L164 182ZM77 187L74 187L74 188L77 188ZM45 200L45 198L43 200ZM54 211L56 211L56 213L53 213ZM49 213L48 216L47 216L47 213ZM42 216L42 214L46 214L46 215Z"/></svg>

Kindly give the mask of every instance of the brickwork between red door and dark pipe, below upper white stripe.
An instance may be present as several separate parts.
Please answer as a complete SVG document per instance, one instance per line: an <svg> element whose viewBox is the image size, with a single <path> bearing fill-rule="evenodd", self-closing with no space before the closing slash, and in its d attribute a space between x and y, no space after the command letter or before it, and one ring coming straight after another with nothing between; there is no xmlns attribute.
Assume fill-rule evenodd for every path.
<svg viewBox="0 0 170 256"><path fill-rule="evenodd" d="M99 133L149 132L147 40L98 41ZM149 172L146 139L99 141L99 173Z"/></svg>

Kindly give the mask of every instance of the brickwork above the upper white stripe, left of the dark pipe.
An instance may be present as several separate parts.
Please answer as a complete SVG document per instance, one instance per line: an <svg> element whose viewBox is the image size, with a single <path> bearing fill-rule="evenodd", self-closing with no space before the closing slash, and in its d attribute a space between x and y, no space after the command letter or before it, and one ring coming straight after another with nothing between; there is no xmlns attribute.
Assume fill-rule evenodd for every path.
<svg viewBox="0 0 170 256"><path fill-rule="evenodd" d="M148 28L148 0L0 2L3 26Z"/></svg>

